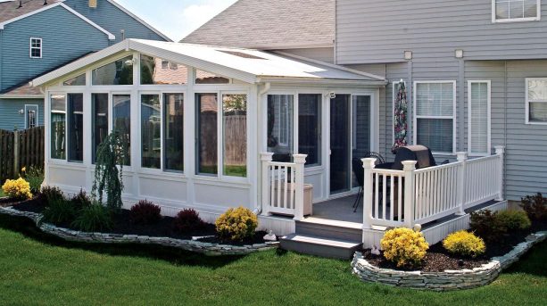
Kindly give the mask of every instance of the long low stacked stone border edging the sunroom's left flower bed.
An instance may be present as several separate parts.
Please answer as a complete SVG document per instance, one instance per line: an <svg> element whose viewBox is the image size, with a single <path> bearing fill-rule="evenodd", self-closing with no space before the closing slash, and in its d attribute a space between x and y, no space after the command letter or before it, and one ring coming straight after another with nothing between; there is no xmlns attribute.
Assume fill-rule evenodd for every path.
<svg viewBox="0 0 547 306"><path fill-rule="evenodd" d="M100 244L158 244L182 249L189 252L203 253L207 256L246 255L252 252L266 251L278 247L278 242L266 242L265 244L229 245L212 244L196 240L182 240L169 237L151 237L122 234L87 233L68 228L55 227L53 224L41 222L43 215L30 211L17 211L11 207L0 207L0 213L4 215L25 217L36 223L43 232L58 236L67 241L100 243Z"/></svg>

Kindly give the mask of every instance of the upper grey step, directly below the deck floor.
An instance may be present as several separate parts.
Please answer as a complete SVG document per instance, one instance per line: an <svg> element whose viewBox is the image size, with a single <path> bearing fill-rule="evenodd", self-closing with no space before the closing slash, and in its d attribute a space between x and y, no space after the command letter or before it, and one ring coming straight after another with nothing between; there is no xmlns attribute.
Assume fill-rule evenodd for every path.
<svg viewBox="0 0 547 306"><path fill-rule="evenodd" d="M305 236L319 236L335 240L346 240L352 242L362 241L362 224L333 221L327 219L307 218L303 221L296 221L295 232Z"/></svg>

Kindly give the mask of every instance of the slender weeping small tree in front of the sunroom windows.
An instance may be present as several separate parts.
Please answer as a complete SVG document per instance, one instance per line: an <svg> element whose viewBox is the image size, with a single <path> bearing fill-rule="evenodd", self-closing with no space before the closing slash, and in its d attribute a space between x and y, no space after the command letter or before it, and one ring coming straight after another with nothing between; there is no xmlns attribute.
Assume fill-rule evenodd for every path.
<svg viewBox="0 0 547 306"><path fill-rule="evenodd" d="M123 161L125 161L127 145L122 141L120 133L113 131L97 148L95 161L95 181L91 194L103 203L106 192L106 206L119 210L122 206L123 191ZM118 166L120 169L118 169Z"/></svg>

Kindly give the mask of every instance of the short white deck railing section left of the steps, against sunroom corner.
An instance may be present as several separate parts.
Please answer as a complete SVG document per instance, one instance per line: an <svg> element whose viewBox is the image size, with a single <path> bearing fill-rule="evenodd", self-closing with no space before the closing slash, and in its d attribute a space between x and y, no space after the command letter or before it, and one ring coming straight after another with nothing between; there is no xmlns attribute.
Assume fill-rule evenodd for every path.
<svg viewBox="0 0 547 306"><path fill-rule="evenodd" d="M272 161L273 153L261 153L262 214L278 213L303 219L305 154L294 162Z"/></svg>

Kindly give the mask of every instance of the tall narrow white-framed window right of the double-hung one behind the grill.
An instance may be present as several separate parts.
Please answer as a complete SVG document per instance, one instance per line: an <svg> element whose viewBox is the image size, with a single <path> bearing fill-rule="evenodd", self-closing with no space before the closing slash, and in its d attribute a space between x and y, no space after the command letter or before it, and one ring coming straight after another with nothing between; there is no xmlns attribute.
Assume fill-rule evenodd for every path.
<svg viewBox="0 0 547 306"><path fill-rule="evenodd" d="M468 82L468 153L490 153L490 81Z"/></svg>

